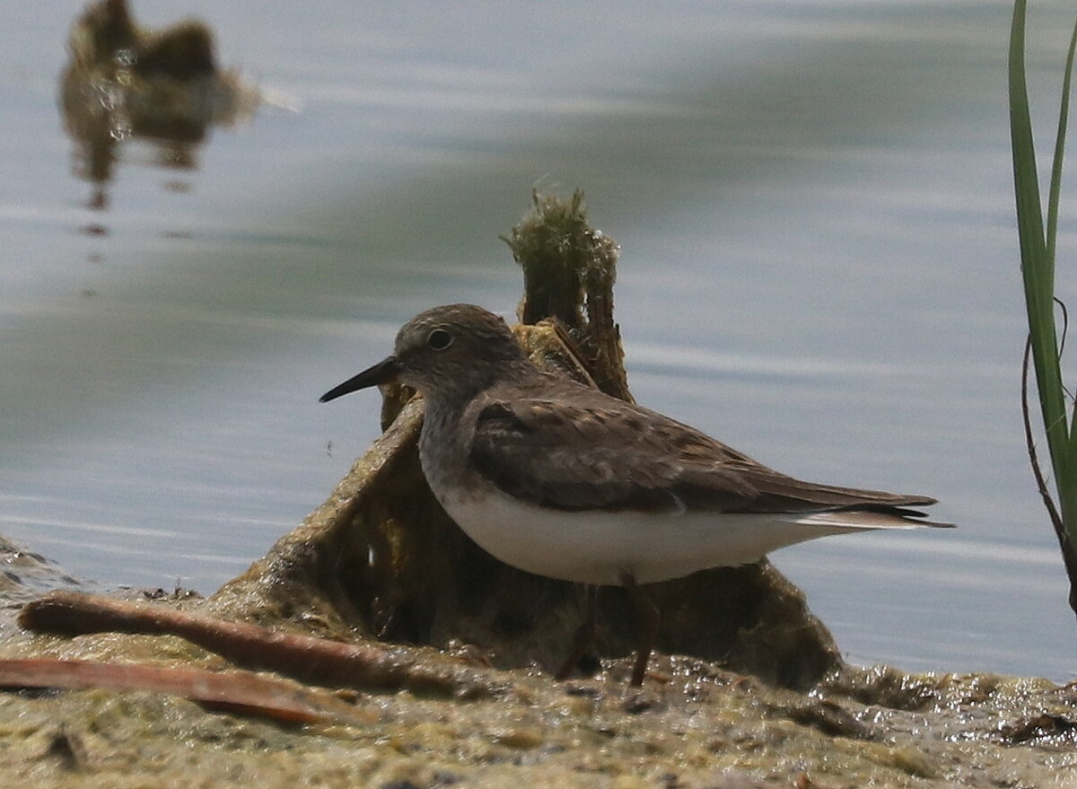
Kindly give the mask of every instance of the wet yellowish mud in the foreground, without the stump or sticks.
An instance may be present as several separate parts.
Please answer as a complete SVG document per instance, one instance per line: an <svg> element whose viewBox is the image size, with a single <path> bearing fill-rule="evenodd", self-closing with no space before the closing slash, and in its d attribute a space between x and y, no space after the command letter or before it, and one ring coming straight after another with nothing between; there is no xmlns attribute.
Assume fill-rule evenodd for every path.
<svg viewBox="0 0 1077 789"><path fill-rule="evenodd" d="M174 606L160 601L157 605ZM592 679L485 668L459 645L411 648L493 692L336 691L347 718L305 725L209 711L176 696L0 693L12 786L1046 787L1077 781L1077 689L1013 677L844 668L808 692L658 655L641 691L629 659ZM229 670L174 637L29 636L0 654Z"/></svg>

